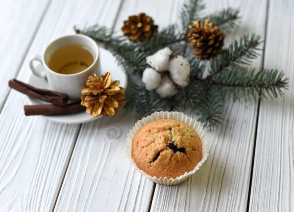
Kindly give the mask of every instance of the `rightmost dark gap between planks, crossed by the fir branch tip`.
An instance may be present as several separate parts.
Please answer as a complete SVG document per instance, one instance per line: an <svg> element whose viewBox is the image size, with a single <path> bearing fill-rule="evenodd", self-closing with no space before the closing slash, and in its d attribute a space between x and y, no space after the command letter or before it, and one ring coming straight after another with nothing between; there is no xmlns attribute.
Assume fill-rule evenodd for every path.
<svg viewBox="0 0 294 212"><path fill-rule="evenodd" d="M268 30L268 22L269 22L269 5L270 0L267 0L267 13L266 13L266 26L265 26L265 39L263 41L264 48L262 53L262 64L261 68L264 69L265 65L265 52L266 52L266 41L267 41L267 30ZM261 94L261 92L260 92ZM253 151L252 151L252 159L251 159L251 171L250 171L250 180L249 180L249 188L248 188L248 198L247 198L247 206L246 206L246 212L249 212L249 206L250 206L250 197L251 197L251 188L252 188L252 179L253 179L253 171L254 171L254 159L255 159L255 148L256 148L256 140L257 140L257 130L258 130L258 120L259 120L259 112L260 112L260 102L261 98L258 99L257 104L257 116L256 116L256 127L254 132L254 142L253 142Z"/></svg>

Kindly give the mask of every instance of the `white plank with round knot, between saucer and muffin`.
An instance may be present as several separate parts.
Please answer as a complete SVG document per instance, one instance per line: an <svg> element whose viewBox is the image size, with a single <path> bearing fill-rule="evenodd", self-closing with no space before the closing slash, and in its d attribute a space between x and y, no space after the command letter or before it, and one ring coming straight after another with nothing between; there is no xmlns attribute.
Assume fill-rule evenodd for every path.
<svg viewBox="0 0 294 212"><path fill-rule="evenodd" d="M125 0L115 31L140 12L160 27L177 18L177 0ZM54 211L147 211L153 182L134 170L124 153L126 134L137 119L123 109L83 125Z"/></svg>

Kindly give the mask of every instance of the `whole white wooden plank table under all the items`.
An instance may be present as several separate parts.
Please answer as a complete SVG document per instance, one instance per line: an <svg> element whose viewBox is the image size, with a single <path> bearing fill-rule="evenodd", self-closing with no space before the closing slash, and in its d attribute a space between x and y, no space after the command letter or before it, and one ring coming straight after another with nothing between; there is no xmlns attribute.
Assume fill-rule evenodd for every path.
<svg viewBox="0 0 294 212"><path fill-rule="evenodd" d="M8 80L27 81L30 55L74 25L120 31L129 15L146 12L165 27L178 20L183 0L0 0L0 212L294 211L294 2L205 2L206 13L241 10L227 42L260 34L264 52L253 66L284 70L290 87L283 98L228 103L222 125L207 132L204 165L181 185L163 186L125 157L134 114L82 125L25 117L28 100Z"/></svg>

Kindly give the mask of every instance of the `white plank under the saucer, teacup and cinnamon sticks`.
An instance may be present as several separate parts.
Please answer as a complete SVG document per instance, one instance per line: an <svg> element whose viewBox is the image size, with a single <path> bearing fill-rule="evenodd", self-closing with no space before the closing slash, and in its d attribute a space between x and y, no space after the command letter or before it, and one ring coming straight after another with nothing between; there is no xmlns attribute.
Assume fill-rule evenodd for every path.
<svg viewBox="0 0 294 212"><path fill-rule="evenodd" d="M88 0L86 4L84 0L53 0L18 79L27 81L31 74L31 54L42 53L50 41L73 34L75 24L103 23L111 27L118 9L116 0ZM80 127L25 117L25 104L25 95L12 90L0 114L1 212L53 210Z"/></svg>

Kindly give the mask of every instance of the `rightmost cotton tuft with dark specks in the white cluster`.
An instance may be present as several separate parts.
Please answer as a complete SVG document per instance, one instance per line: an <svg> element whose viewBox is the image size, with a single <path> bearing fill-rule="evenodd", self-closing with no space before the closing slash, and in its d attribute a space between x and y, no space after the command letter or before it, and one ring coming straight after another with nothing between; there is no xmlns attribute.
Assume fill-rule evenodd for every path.
<svg viewBox="0 0 294 212"><path fill-rule="evenodd" d="M181 87L185 87L189 83L190 64L187 59L182 56L172 58L169 66L169 72L172 81Z"/></svg>

